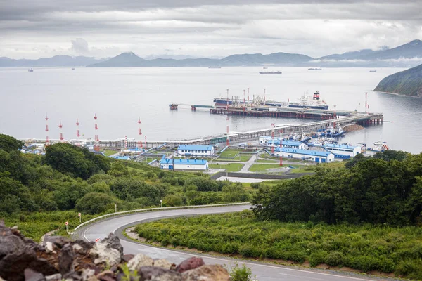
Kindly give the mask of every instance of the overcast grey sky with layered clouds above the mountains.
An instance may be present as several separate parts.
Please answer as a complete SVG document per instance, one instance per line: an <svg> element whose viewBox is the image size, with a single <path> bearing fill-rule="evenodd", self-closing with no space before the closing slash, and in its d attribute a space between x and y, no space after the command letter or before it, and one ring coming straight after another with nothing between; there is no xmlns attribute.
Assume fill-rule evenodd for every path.
<svg viewBox="0 0 422 281"><path fill-rule="evenodd" d="M422 39L421 7L422 0L0 0L0 57L317 58Z"/></svg>

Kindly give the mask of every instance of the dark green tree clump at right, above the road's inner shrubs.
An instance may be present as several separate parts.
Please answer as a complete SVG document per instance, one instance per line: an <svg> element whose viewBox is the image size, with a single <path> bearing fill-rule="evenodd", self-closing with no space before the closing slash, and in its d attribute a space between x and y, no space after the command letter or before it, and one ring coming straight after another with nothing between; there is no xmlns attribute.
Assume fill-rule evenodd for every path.
<svg viewBox="0 0 422 281"><path fill-rule="evenodd" d="M422 153L359 156L345 166L260 187L252 200L255 215L263 221L421 225Z"/></svg>

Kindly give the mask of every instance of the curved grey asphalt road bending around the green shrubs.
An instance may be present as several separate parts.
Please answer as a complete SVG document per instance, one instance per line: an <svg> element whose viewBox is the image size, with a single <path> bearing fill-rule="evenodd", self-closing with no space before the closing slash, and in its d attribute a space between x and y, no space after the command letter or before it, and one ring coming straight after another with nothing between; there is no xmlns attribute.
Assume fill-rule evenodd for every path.
<svg viewBox="0 0 422 281"><path fill-rule="evenodd" d="M245 264L252 268L252 275L256 275L259 281L276 281L276 280L307 280L307 281L338 281L338 280L392 280L392 278L377 278L353 273L340 273L331 270L302 269L294 266L277 266L271 263L260 263L254 261L245 261L241 259L229 259L219 256L208 256L203 254L190 254L186 251L177 251L170 249L162 249L152 247L145 244L139 244L122 235L124 228L134 226L141 222L153 221L160 218L169 218L172 216L195 216L199 214L221 214L233 211L241 211L249 209L248 205L224 206L224 207L206 207L198 209L173 209L169 211L150 211L140 214L129 214L124 216L115 216L103 221L77 230L77 235L84 240L95 241L96 238L101 240L108 236L109 233L115 233L120 237L120 242L124 247L124 254L146 254L153 259L167 259L172 263L180 263L184 259L191 256L201 256L206 264L226 264L233 265L238 262L239 265Z"/></svg>

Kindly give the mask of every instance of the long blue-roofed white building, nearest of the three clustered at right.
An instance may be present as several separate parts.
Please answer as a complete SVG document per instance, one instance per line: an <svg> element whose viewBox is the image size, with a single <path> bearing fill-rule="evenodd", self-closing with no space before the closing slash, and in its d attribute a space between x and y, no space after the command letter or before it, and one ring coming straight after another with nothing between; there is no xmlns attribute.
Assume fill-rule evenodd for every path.
<svg viewBox="0 0 422 281"><path fill-rule="evenodd" d="M302 150L295 148L276 148L274 155L281 156L283 158L296 158L303 160L310 160L314 162L333 162L334 154L329 151L317 151L317 150Z"/></svg>

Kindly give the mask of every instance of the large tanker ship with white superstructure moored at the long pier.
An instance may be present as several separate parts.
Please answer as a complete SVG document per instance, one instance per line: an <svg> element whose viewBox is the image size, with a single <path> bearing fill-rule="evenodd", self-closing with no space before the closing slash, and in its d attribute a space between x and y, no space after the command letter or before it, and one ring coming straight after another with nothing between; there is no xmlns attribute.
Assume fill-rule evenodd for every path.
<svg viewBox="0 0 422 281"><path fill-rule="evenodd" d="M231 105L231 99L227 100L227 98L214 98L215 107L226 107L227 103L229 106ZM252 100L240 100L239 103L241 105L252 105ZM303 95L299 98L298 103L290 103L290 102L279 102L274 100L267 100L262 102L260 105L267 105L272 107L293 107L293 108L312 108L315 110L328 110L328 105L324 100L320 100L319 98L319 91L314 93L312 98L308 95Z"/></svg>

